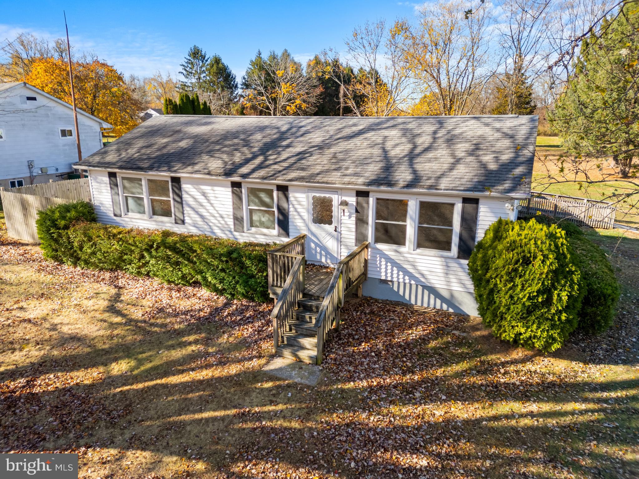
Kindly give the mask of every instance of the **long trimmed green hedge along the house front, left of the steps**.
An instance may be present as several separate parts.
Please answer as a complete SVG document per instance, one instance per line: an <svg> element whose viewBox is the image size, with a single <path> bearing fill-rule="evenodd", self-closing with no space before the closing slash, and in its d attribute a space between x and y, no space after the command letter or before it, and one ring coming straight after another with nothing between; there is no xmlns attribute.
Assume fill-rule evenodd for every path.
<svg viewBox="0 0 639 479"><path fill-rule="evenodd" d="M90 204L38 213L45 257L93 270L120 270L179 285L201 284L229 298L268 301L266 252L273 245L94 223Z"/></svg>

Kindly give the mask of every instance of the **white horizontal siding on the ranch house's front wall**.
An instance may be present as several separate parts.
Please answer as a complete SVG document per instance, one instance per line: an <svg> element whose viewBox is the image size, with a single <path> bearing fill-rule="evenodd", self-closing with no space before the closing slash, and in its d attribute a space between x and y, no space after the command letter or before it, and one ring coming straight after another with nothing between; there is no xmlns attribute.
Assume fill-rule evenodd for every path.
<svg viewBox="0 0 639 479"><path fill-rule="evenodd" d="M153 219L114 217L107 172L91 170L89 178L99 222L126 227L158 228L158 222ZM262 183L245 183L245 185L274 186ZM286 241L286 238L278 238L274 234L233 231L230 181L181 177L181 186L185 225L166 223L162 224L161 227L173 231L204 233L240 241L260 241L263 243ZM305 186L289 186L290 238L307 232L308 189ZM339 256L343 258L355 249L355 190L343 189L340 194L341 199L348 201L347 213L345 215L342 215L341 211L339 213ZM440 199L433 199L439 197L429 195L408 196L416 199L419 197L424 201L440 201ZM371 194L369 228L373 224L373 201L374 195ZM459 198L455 197L454 200L450 201L456 201L457 204ZM512 217L512 213L504 207L505 202L507 200L495 197L482 197L479 200L477 239L482 238L486 228L497 218ZM459 218L456 217L454 222L458 224ZM408 225L408 235L412 235L414 231L413 225ZM446 252L437 253L431 252L431 250L372 247L369 259L369 277L472 293L473 285L468 277L468 261L457 259L456 256Z"/></svg>

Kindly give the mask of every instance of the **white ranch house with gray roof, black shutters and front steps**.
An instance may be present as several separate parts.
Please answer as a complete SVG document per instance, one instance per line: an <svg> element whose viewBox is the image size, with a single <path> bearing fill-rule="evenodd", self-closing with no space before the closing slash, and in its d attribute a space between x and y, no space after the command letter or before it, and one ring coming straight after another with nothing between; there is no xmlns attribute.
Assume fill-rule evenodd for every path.
<svg viewBox="0 0 639 479"><path fill-rule="evenodd" d="M355 250L366 271L349 273L344 289L477 314L468 257L530 194L536 133L537 116L156 116L81 166L102 223L292 239L279 253L332 266ZM292 261L270 264L282 301L295 289L284 284ZM296 298L293 309L316 321L309 311L318 316L328 303L330 281L307 285L308 304ZM285 320L275 347L290 344Z"/></svg>

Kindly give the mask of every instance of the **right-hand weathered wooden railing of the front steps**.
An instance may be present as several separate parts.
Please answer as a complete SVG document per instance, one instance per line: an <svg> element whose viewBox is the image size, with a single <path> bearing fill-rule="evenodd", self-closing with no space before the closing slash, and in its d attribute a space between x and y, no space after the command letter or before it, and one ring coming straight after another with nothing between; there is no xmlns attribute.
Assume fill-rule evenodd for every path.
<svg viewBox="0 0 639 479"><path fill-rule="evenodd" d="M344 298L355 291L355 288L359 288L368 277L369 244L369 241L364 241L335 266L315 321L318 328L318 365L321 364L328 331L334 327L339 330L339 310L344 304Z"/></svg>

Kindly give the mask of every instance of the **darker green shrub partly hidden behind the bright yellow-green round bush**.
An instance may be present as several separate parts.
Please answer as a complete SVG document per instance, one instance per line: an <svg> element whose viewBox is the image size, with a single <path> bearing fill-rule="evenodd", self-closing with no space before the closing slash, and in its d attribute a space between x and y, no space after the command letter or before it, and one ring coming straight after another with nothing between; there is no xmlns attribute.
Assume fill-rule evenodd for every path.
<svg viewBox="0 0 639 479"><path fill-rule="evenodd" d="M555 218L539 215L535 221L546 225L557 224L566 231L574 251L574 260L581 271L580 291L583 293L577 328L585 333L602 333L615 317L620 289L615 271L604 251L590 241L577 225L567 221L557 223Z"/></svg>

